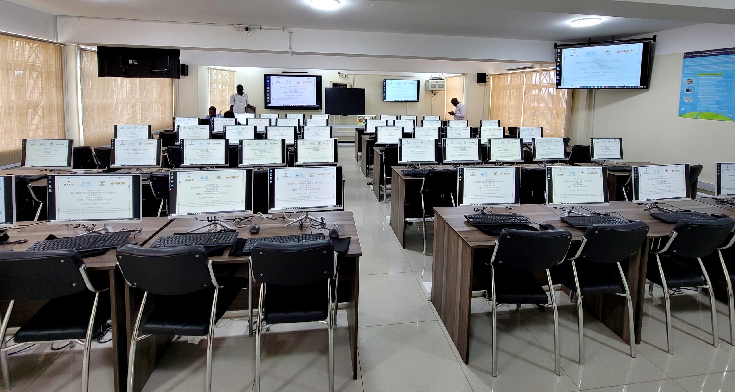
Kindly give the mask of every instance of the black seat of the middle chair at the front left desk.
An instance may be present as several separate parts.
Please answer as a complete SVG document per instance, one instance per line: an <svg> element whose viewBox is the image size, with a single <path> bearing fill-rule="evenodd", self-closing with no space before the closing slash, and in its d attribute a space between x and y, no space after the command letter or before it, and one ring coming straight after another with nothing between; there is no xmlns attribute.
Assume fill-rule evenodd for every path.
<svg viewBox="0 0 735 392"><path fill-rule="evenodd" d="M220 280L222 282L222 280ZM220 288L215 310L215 323L232 301L248 285L245 277L232 277ZM154 307L140 328L141 335L205 336L209 333L215 286L183 295L153 295Z"/></svg>

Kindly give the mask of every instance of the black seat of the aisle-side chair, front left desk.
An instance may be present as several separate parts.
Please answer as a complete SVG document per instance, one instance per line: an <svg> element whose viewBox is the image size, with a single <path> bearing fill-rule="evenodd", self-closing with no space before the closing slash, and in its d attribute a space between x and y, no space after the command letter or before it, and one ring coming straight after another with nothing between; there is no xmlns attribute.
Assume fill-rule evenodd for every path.
<svg viewBox="0 0 735 392"><path fill-rule="evenodd" d="M326 280L304 286L265 288L263 319L266 324L317 322L326 320L329 312Z"/></svg>

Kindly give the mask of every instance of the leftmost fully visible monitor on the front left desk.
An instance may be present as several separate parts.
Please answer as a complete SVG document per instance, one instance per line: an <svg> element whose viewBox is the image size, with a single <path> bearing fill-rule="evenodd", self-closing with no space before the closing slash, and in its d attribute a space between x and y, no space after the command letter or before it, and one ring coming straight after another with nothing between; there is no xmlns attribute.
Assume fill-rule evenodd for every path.
<svg viewBox="0 0 735 392"><path fill-rule="evenodd" d="M51 174L49 224L140 222L140 174Z"/></svg>

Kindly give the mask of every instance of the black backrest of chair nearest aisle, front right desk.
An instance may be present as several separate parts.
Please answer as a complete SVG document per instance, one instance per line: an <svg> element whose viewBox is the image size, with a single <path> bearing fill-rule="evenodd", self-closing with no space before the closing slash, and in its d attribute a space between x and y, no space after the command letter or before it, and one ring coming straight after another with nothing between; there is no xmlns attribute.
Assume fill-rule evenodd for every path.
<svg viewBox="0 0 735 392"><path fill-rule="evenodd" d="M526 231L503 229L493 265L523 272L542 272L564 261L572 243L567 229Z"/></svg>

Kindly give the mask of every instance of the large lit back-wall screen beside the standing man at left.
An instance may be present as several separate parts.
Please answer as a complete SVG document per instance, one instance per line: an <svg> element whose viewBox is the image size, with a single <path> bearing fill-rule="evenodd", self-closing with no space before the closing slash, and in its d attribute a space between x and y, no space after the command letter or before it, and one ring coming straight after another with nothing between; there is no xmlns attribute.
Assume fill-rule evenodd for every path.
<svg viewBox="0 0 735 392"><path fill-rule="evenodd" d="M265 75L265 109L321 110L321 76Z"/></svg>

